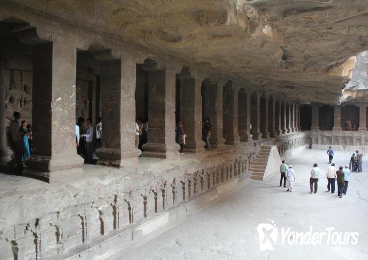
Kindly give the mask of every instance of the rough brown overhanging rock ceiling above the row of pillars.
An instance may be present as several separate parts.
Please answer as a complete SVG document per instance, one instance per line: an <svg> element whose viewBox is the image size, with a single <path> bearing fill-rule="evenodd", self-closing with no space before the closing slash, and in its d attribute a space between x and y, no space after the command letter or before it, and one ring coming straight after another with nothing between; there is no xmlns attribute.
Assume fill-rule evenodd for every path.
<svg viewBox="0 0 368 260"><path fill-rule="evenodd" d="M14 0L304 103L337 103L368 0Z"/></svg>

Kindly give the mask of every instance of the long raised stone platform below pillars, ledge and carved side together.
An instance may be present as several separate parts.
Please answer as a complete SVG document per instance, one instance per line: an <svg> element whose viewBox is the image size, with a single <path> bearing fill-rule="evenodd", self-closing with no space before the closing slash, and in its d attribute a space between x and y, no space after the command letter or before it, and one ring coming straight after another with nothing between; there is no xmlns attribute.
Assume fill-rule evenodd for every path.
<svg viewBox="0 0 368 260"><path fill-rule="evenodd" d="M299 135L303 133L287 140ZM72 183L48 184L2 174L7 189L0 197L1 259L64 259L79 252L85 252L85 259L96 245L110 247L108 239L133 236L137 230L139 236L155 235L158 231L149 231L152 226L145 226L147 221L175 208L175 214L190 205L201 208L229 192L237 187L234 180L245 175L261 144L284 144L282 140L241 143L180 160L139 158L136 172L84 165L87 177ZM169 219L175 225L171 221L180 215L171 214Z"/></svg>

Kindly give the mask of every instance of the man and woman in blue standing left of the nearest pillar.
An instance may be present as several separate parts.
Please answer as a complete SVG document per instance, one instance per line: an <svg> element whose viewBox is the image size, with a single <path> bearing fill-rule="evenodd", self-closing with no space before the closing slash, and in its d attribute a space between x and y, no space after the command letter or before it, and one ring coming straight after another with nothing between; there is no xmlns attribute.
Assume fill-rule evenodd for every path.
<svg viewBox="0 0 368 260"><path fill-rule="evenodd" d="M32 153L32 128L25 120L22 120L19 124L19 112L14 112L13 117L14 119L10 122L10 133L15 156L7 164L11 168L16 166L19 170L22 170L23 162Z"/></svg>

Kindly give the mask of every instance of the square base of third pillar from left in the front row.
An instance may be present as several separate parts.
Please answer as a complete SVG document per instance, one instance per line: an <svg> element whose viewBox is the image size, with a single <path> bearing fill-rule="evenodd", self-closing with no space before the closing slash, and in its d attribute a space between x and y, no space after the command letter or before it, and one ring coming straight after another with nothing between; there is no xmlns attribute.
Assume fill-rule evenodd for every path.
<svg viewBox="0 0 368 260"><path fill-rule="evenodd" d="M143 145L143 157L177 159L180 156L180 145L173 144L168 146L159 143L147 143Z"/></svg>

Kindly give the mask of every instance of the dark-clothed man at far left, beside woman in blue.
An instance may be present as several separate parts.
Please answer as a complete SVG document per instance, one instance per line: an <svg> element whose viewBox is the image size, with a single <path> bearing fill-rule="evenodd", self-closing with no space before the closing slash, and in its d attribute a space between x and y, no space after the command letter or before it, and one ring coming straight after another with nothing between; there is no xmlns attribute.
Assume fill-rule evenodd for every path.
<svg viewBox="0 0 368 260"><path fill-rule="evenodd" d="M23 169L22 156L24 154L24 145L22 141L22 136L24 133L20 132L19 118L20 113L14 112L14 120L10 122L10 133L11 139L13 140L15 147L15 156L7 163L9 167L14 167L15 165L19 170Z"/></svg>

